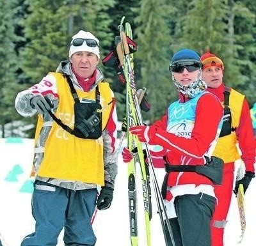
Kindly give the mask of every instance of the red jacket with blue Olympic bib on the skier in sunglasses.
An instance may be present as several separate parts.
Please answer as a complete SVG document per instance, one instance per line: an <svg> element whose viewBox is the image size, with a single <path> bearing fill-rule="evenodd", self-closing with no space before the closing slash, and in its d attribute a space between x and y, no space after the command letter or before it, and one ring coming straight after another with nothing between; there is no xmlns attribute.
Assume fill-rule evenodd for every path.
<svg viewBox="0 0 256 246"><path fill-rule="evenodd" d="M153 124L157 130L150 144L166 149L170 165L204 165L205 156L211 157L220 134L222 116L220 101L211 93L204 92L195 98L180 94L163 118ZM199 192L214 196L212 181L194 172L168 174L167 187L172 187L173 196Z"/></svg>

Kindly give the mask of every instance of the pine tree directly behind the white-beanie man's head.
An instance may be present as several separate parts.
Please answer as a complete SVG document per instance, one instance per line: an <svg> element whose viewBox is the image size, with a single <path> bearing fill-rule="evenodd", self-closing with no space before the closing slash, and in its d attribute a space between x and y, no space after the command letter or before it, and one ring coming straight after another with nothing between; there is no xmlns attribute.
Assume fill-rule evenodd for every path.
<svg viewBox="0 0 256 246"><path fill-rule="evenodd" d="M92 32L100 46L109 45L109 16L105 13L113 1L33 1L24 20L28 43L22 52L22 69L33 83L45 73L55 71L61 60L68 59L72 35L80 29ZM103 52L104 53L104 52Z"/></svg>

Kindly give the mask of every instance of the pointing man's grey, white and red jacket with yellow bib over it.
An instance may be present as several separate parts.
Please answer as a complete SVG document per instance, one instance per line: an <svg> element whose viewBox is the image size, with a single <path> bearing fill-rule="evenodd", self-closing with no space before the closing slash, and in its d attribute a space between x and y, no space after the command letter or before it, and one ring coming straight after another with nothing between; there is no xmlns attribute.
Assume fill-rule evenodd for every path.
<svg viewBox="0 0 256 246"><path fill-rule="evenodd" d="M39 114L32 175L38 180L74 190L104 185L104 181L114 186L117 173L116 105L113 91L102 81L99 69L95 70L92 79L81 83L70 62L62 62L58 73L48 73L38 84L20 91L15 107L22 116L31 117L37 114L30 105L31 98L37 94L51 95L54 114L65 125L74 127L74 98L62 73L70 77L79 98L94 98L95 88L99 86L100 104L104 109L102 135L99 139L79 139L68 134L49 114ZM106 107L109 102L111 104Z"/></svg>

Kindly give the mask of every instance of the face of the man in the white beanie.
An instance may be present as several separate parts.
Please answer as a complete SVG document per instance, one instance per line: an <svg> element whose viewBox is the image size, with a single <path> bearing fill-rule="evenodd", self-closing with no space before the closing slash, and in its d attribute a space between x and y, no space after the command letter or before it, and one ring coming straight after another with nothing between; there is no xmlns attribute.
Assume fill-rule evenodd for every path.
<svg viewBox="0 0 256 246"><path fill-rule="evenodd" d="M79 51L71 56L70 62L77 75L83 78L90 78L99 64L99 58L92 52Z"/></svg>

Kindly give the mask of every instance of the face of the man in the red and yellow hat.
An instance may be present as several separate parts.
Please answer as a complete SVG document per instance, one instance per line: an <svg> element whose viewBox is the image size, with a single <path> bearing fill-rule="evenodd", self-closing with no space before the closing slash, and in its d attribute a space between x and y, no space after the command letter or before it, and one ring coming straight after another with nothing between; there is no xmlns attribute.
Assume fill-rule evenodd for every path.
<svg viewBox="0 0 256 246"><path fill-rule="evenodd" d="M218 88L222 83L223 71L219 66L209 66L202 72L202 79L209 88Z"/></svg>

